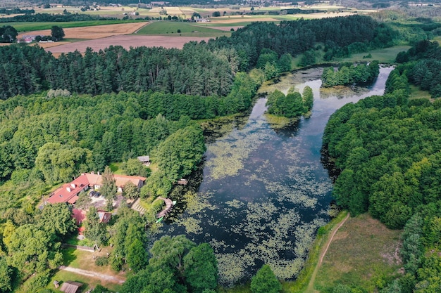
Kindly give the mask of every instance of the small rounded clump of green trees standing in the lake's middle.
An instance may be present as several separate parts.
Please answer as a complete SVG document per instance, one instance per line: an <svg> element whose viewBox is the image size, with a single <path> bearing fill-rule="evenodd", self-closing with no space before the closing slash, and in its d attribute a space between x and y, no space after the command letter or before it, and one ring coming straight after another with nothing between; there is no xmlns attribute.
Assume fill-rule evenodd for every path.
<svg viewBox="0 0 441 293"><path fill-rule="evenodd" d="M313 93L309 86L305 86L303 96L298 91L291 88L287 95L275 90L268 95L266 106L268 113L285 116L288 118L299 117L310 111L313 106Z"/></svg>

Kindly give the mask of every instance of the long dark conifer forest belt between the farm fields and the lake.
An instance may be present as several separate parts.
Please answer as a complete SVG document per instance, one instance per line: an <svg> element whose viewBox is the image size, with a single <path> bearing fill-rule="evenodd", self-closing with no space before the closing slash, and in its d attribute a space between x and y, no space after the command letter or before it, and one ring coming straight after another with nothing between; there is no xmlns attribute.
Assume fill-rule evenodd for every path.
<svg viewBox="0 0 441 293"><path fill-rule="evenodd" d="M280 25L254 22L232 37L211 39L208 44L190 43L182 50L118 46L104 51L87 50L54 58L42 48L8 46L0 56L8 60L0 68L0 98L67 89L71 93L111 93L115 91L162 91L199 96L226 96L234 75L256 66L268 49L287 62L287 54L297 56L325 44L325 58L348 56L363 44L364 49L390 46L397 33L367 16L297 20ZM352 48L352 49L351 49ZM271 53L269 54L271 55ZM265 66L267 77L285 68ZM271 62L270 64L271 65Z"/></svg>

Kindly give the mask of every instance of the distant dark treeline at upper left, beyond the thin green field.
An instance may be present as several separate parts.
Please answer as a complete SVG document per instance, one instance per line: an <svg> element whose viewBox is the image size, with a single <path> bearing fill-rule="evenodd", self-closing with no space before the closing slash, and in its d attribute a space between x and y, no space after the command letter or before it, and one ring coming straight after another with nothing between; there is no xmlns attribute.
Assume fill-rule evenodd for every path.
<svg viewBox="0 0 441 293"><path fill-rule="evenodd" d="M0 12L1 13L1 12ZM23 12L22 12L23 13ZM85 13L51 14L51 13L26 13L15 15L11 18L0 18L0 22L70 22L85 20L117 20L118 18L102 17Z"/></svg>

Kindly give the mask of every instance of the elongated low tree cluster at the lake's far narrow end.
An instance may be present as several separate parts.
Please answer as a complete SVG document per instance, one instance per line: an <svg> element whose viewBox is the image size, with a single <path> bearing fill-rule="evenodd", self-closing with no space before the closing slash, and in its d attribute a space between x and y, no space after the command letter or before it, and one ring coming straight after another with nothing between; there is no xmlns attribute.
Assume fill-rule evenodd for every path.
<svg viewBox="0 0 441 293"><path fill-rule="evenodd" d="M338 70L334 67L323 69L321 74L321 86L347 86L352 84L370 84L380 73L380 65L374 60L368 64L340 64Z"/></svg>

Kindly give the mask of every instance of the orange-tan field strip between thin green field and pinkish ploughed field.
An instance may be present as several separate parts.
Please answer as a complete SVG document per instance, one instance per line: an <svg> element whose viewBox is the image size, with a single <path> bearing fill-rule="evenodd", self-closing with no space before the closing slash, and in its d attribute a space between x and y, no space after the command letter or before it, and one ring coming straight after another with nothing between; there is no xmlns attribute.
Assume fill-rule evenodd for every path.
<svg viewBox="0 0 441 293"><path fill-rule="evenodd" d="M133 34L149 22L134 22L118 25L95 25L92 27L68 27L64 30L66 39L99 39L120 34ZM19 34L18 39L22 35L39 34L42 36L51 35L51 30L38 30L35 32L26 32Z"/></svg>

